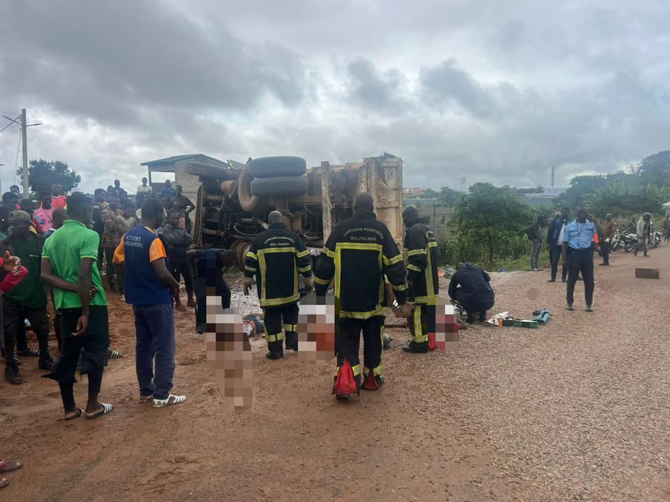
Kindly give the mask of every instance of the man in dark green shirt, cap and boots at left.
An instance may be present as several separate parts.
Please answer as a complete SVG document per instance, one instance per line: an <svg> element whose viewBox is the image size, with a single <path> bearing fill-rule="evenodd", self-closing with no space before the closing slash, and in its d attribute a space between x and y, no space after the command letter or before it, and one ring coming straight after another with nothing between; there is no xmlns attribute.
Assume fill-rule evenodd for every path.
<svg viewBox="0 0 670 502"><path fill-rule="evenodd" d="M40 280L40 261L44 237L30 231L31 218L25 211L14 211L10 218L11 232L0 241L0 255L6 251L21 259L28 275L4 296L2 305L5 337L5 377L10 383L23 383L15 359L17 333L28 319L40 344L38 366L51 370L54 360L49 353L49 318L47 291Z"/></svg>

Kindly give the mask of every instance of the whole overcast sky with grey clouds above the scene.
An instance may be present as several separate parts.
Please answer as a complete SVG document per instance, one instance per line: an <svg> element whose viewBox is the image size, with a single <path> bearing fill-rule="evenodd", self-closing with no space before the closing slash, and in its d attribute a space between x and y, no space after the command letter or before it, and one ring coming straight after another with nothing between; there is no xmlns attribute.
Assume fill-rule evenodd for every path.
<svg viewBox="0 0 670 502"><path fill-rule="evenodd" d="M382 151L405 186L548 186L552 166L565 186L670 148L667 0L21 0L0 20L0 112L27 108L29 157L87 190L184 153Z"/></svg>

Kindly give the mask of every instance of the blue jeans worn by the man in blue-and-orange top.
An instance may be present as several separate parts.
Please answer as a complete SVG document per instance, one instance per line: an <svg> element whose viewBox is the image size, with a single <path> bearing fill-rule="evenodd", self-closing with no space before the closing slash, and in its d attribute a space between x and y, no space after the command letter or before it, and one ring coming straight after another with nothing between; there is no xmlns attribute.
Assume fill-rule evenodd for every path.
<svg viewBox="0 0 670 502"><path fill-rule="evenodd" d="M137 334L135 367L140 394L168 399L174 376L174 307L172 304L133 305L133 312Z"/></svg>

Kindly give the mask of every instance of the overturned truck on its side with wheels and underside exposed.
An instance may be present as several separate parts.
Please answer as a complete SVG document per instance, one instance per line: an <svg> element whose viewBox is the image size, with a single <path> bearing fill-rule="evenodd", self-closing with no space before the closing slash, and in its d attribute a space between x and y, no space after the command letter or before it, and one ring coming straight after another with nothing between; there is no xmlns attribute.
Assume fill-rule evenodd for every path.
<svg viewBox="0 0 670 502"><path fill-rule="evenodd" d="M402 245L403 161L383 153L362 162L307 169L299 157L228 160L228 167L191 162L186 172L200 176L193 238L199 248L227 248L244 268L249 243L267 228L269 211L281 211L287 227L297 232L313 255L332 227L350 218L355 197L367 192L377 218Z"/></svg>

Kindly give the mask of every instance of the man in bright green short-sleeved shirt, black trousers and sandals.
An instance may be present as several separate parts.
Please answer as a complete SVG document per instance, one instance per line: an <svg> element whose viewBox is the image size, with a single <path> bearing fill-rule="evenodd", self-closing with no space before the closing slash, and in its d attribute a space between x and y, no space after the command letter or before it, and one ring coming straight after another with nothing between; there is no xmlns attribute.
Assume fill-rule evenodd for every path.
<svg viewBox="0 0 670 502"><path fill-rule="evenodd" d="M111 404L98 402L110 345L107 298L95 266L100 236L89 229L93 216L91 199L77 192L68 197L67 203L68 219L47 240L42 254L42 280L54 289L63 338L61 355L45 377L59 383L65 420L82 414L97 418L113 409ZM85 411L77 408L73 393L80 356L81 374L89 378Z"/></svg>

